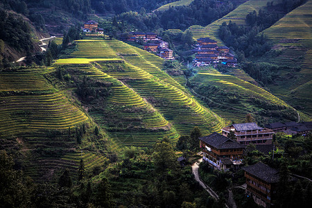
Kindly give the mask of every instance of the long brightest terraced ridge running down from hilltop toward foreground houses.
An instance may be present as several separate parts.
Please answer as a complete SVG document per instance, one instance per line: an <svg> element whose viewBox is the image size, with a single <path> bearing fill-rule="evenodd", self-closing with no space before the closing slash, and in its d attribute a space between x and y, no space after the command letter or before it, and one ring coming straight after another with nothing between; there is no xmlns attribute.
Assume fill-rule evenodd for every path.
<svg viewBox="0 0 312 208"><path fill-rule="evenodd" d="M195 98L187 93L184 87L162 71L163 60L156 55L117 40L83 40L78 42L78 49L72 53L73 57L122 58L124 63L115 64L117 65L116 68L118 65L121 67L119 71L112 70L114 67L112 64L105 62L96 62L95 64L105 76L122 81L124 86L134 90L138 96L148 101L146 105L150 105L154 110L160 112L180 134L189 134L195 125L200 126L204 134L218 131L224 125L223 119L200 105ZM124 105L130 101L131 99L125 101ZM121 122L123 122L122 119ZM150 128L153 126L154 124L150 125ZM139 135L140 132L137 134ZM119 133L119 131L110 135L117 140L124 137L124 134ZM134 137L138 138L138 135ZM159 135L149 133L149 135L141 135L139 138L148 142L146 138L151 137L155 138ZM176 138L174 134L171 137ZM136 145L135 142L132 144Z"/></svg>

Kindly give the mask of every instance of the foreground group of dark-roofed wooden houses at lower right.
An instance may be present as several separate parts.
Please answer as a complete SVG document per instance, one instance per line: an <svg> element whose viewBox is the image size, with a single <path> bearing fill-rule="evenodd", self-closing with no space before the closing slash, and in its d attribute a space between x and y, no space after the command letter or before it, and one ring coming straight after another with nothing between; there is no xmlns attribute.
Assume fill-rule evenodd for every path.
<svg viewBox="0 0 312 208"><path fill-rule="evenodd" d="M295 126L297 129L303 129L304 125L301 134L312 131L312 122L270 123L266 128L261 128L257 123L232 124L223 128L222 134L214 132L207 137L199 138L202 159L219 170L238 170L244 165L243 153L248 144L254 144L257 150L268 154L275 148L272 144L274 131L284 130L287 128L286 125ZM236 141L229 139L227 137L229 134L234 134ZM270 207L272 200L275 199L279 171L261 162L242 169L245 171L248 196L251 196L258 205Z"/></svg>

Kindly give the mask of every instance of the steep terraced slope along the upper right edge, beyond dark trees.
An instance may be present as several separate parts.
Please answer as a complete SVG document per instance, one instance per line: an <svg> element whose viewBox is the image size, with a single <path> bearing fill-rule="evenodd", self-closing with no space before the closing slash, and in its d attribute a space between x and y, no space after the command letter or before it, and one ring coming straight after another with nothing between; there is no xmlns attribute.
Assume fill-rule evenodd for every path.
<svg viewBox="0 0 312 208"><path fill-rule="evenodd" d="M264 33L275 41L282 51L268 62L290 67L300 66L300 71L280 71L278 85L270 86L272 92L304 113L312 115L312 1L289 12ZM299 64L298 64L299 63ZM290 78L294 76L294 78Z"/></svg>

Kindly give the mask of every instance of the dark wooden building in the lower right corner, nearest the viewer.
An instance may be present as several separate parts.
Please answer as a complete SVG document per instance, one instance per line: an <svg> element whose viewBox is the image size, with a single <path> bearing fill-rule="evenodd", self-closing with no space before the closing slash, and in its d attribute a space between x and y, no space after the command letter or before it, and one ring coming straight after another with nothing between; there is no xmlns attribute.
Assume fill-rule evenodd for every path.
<svg viewBox="0 0 312 208"><path fill-rule="evenodd" d="M270 207L279 181L278 171L261 162L242 169L245 171L248 196L258 205Z"/></svg>

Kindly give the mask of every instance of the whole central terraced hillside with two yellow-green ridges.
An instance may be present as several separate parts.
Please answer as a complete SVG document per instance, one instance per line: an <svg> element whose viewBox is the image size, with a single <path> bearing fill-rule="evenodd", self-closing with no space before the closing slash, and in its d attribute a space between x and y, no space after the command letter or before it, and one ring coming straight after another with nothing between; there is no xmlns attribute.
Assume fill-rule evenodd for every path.
<svg viewBox="0 0 312 208"><path fill-rule="evenodd" d="M71 54L72 58L58 60L56 64L72 62L68 67L114 83L114 94L104 107L111 114L107 116L96 111L90 114L98 122L106 119L101 125L120 144L150 146L164 135L173 141L179 134L188 135L195 125L204 134L219 131L225 125L223 119L200 105L184 87L162 71L162 58L117 40L81 40L77 43L78 51ZM87 60L91 64L87 64ZM80 63L79 68L75 64L77 62ZM137 114L142 106L146 106L147 114ZM110 110L109 107L113 108ZM128 127L123 108L132 108L126 111L138 116L137 124L133 122L135 117L129 118L135 128ZM112 119L117 123L110 123Z"/></svg>

